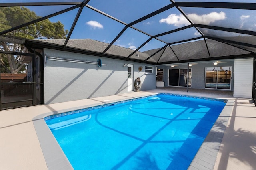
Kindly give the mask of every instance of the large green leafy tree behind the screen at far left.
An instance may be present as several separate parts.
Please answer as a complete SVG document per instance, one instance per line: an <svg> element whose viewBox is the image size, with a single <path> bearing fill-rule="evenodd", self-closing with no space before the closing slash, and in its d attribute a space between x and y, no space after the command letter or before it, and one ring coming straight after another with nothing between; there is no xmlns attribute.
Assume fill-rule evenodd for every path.
<svg viewBox="0 0 256 170"><path fill-rule="evenodd" d="M0 8L0 32L38 18L40 16L26 7ZM67 34L68 30L64 30L64 25L60 21L51 22L46 19L5 35L24 39L63 39ZM24 45L22 44L0 42L0 50L22 52L23 49ZM18 62L18 57L10 54L0 54L0 65L2 66L1 73L18 73L24 68L24 64Z"/></svg>

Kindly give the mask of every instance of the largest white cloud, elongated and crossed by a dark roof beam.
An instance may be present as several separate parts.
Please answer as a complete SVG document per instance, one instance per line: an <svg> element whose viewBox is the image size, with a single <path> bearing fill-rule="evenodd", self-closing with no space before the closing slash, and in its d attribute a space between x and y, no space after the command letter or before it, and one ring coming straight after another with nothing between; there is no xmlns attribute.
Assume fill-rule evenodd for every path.
<svg viewBox="0 0 256 170"><path fill-rule="evenodd" d="M218 20L224 20L226 18L225 12L211 12L209 14L188 14L188 18L191 19L192 22L198 24L210 24L212 22ZM182 15L170 14L167 18L163 18L159 21L160 23L166 23L168 25L174 25L176 27L189 25L190 22Z"/></svg>

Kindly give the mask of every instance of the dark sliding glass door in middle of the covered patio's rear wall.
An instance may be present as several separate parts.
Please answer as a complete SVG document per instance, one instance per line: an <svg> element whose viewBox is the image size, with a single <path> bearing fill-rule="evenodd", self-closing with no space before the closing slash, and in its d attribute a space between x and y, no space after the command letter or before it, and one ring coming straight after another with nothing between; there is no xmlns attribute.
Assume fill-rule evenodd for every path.
<svg viewBox="0 0 256 170"><path fill-rule="evenodd" d="M169 86L191 87L191 69L170 69L169 70ZM188 79L187 79L188 77Z"/></svg>

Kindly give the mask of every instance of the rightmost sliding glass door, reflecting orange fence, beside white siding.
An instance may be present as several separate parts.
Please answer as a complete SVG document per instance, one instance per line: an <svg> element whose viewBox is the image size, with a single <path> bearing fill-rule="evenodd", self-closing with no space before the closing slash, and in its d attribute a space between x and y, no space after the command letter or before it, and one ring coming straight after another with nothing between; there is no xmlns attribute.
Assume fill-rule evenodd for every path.
<svg viewBox="0 0 256 170"><path fill-rule="evenodd" d="M231 89L232 67L207 67L205 69L205 88Z"/></svg>

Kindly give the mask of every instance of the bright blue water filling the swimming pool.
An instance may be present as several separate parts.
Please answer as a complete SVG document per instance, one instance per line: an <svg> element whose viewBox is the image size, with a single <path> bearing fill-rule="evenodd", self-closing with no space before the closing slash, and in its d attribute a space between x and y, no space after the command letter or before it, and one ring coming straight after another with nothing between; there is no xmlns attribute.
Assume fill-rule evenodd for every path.
<svg viewBox="0 0 256 170"><path fill-rule="evenodd" d="M160 94L45 120L75 170L186 170L225 104Z"/></svg>

